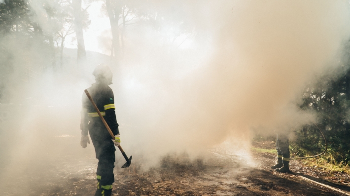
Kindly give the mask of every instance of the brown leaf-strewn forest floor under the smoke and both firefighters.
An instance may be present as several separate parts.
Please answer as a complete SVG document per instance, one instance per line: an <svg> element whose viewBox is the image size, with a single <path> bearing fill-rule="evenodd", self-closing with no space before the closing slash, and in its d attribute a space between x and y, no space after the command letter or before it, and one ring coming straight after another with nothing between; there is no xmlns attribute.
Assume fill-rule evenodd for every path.
<svg viewBox="0 0 350 196"><path fill-rule="evenodd" d="M270 148L254 143L256 148ZM273 145L272 145L273 146ZM115 163L113 196L340 196L342 194L316 185L295 174L282 174L272 169L276 155L252 151L252 164L225 154L217 159L190 159L186 155L170 154L150 169L140 169L137 157L129 168L120 168L125 160ZM221 156L221 157L220 157ZM59 157L56 159L54 157ZM74 156L66 152L51 156L53 161L33 165L17 176L16 183L0 187L6 196L93 196L96 190L97 160L90 156ZM59 164L54 164L54 162ZM43 161L40 161L43 162ZM48 164L49 162L49 164ZM329 176L321 168L309 168L292 160L291 170L308 178L350 191L345 183L348 174ZM41 172L40 172L41 171ZM323 173L322 173L323 172ZM336 180L335 177L337 178ZM325 180L322 180L325 179ZM345 180L344 180L345 179ZM13 186L11 186L13 185ZM16 187L16 188L15 188Z"/></svg>

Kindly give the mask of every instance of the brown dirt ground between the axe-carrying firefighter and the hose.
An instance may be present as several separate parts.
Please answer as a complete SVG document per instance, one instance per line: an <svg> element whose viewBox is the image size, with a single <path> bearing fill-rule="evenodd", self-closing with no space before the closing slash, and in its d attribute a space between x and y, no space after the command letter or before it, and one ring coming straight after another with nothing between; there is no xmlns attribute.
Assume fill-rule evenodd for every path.
<svg viewBox="0 0 350 196"><path fill-rule="evenodd" d="M144 174L122 173L116 195L127 196L339 196L291 174L269 169L274 158L254 154L256 168L242 163L232 167L163 165Z"/></svg>

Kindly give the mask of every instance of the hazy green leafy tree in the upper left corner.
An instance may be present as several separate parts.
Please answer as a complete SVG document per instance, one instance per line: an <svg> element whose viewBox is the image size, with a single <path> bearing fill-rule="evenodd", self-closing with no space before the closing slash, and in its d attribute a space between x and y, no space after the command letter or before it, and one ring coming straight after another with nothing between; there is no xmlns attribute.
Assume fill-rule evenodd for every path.
<svg viewBox="0 0 350 196"><path fill-rule="evenodd" d="M49 40L36 17L27 0L0 3L1 96L11 97L11 91L6 90L8 86L30 81L25 70L42 72L52 61Z"/></svg>

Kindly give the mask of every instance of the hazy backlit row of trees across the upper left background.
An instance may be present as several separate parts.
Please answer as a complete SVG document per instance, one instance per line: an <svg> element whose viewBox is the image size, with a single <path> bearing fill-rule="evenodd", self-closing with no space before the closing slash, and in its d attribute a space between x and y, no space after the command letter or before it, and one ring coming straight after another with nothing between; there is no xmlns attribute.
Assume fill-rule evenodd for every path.
<svg viewBox="0 0 350 196"><path fill-rule="evenodd" d="M97 0L87 0L86 3L92 1ZM125 30L129 26L143 25L157 32L161 31L161 24L174 25L178 31L172 35L173 42L184 34L193 35L193 25L183 22L185 16L175 16L167 11L175 9L181 12L178 3L148 0L102 2L102 13L110 20L110 56L115 66L123 56L127 39ZM88 7L82 7L82 0L0 0L0 99L8 94L6 86L35 78L29 76L30 73L40 74L47 69L61 71L65 65L63 49L69 35L75 35L77 67L83 68L86 58L83 30L88 29L91 22Z"/></svg>

